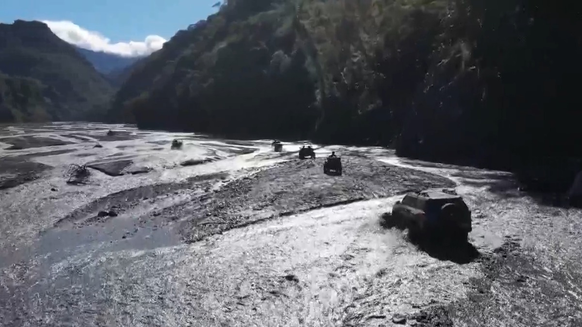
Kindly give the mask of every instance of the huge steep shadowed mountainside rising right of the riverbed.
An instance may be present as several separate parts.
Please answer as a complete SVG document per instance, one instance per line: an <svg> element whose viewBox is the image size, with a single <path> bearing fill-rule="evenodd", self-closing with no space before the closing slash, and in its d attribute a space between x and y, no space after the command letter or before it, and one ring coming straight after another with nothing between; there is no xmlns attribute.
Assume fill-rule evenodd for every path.
<svg viewBox="0 0 582 327"><path fill-rule="evenodd" d="M503 169L582 157L580 27L541 0L231 0L136 63L110 118Z"/></svg>

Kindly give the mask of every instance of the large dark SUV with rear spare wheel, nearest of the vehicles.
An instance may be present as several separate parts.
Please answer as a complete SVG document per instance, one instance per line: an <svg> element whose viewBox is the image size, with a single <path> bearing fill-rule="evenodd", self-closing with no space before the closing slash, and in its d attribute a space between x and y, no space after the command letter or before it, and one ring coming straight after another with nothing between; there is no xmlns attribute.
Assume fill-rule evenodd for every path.
<svg viewBox="0 0 582 327"><path fill-rule="evenodd" d="M387 228L408 229L410 240L466 243L471 232L471 211L463 198L446 190L409 193L382 215Z"/></svg>

